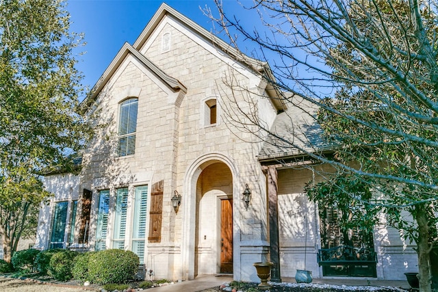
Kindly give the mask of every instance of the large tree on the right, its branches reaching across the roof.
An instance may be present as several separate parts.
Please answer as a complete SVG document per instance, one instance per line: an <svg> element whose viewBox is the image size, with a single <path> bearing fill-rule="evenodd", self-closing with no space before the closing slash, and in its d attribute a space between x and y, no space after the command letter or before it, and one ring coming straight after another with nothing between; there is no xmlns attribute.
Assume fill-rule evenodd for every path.
<svg viewBox="0 0 438 292"><path fill-rule="evenodd" d="M293 116L289 133L268 129L254 113L254 99L246 98L253 103L249 107L231 100L245 120L226 111L229 122L331 165L331 178L309 187L309 196L322 204L360 204L370 214L385 214L388 224L417 244L420 290L430 291L429 253L437 240L438 211L437 3L257 0L250 9L259 13L263 32L244 27L227 16L220 1L217 5L215 19L233 46L242 46L235 31L259 44L255 57L274 64L266 81L290 93L282 102L309 115L308 129L320 125L325 147L312 144L314 133L294 127ZM229 85L242 94L237 83ZM303 100L311 106L303 107ZM294 139L297 133L301 139ZM367 191L349 190L358 183ZM371 200L361 197L368 190ZM339 196L324 196L333 193ZM376 223L364 226L370 222Z"/></svg>

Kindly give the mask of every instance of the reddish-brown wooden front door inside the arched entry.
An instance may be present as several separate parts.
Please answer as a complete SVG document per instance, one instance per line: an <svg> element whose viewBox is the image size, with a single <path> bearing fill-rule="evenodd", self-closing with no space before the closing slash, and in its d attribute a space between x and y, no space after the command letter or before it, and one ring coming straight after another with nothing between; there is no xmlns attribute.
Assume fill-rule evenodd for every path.
<svg viewBox="0 0 438 292"><path fill-rule="evenodd" d="M233 273L233 199L220 205L220 273Z"/></svg>

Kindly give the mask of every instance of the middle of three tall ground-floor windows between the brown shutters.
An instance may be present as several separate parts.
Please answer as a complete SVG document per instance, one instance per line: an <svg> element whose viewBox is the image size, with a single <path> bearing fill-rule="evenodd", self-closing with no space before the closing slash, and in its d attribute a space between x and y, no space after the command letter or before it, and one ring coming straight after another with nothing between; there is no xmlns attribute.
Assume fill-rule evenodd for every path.
<svg viewBox="0 0 438 292"><path fill-rule="evenodd" d="M116 218L112 248L125 248L126 215L128 207L128 188L117 189Z"/></svg>

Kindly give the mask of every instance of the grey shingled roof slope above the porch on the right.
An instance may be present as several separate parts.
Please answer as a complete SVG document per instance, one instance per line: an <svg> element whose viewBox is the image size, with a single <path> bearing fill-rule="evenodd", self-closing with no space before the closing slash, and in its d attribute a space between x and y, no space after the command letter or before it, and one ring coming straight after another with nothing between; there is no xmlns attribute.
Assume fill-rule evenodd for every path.
<svg viewBox="0 0 438 292"><path fill-rule="evenodd" d="M322 129L315 117L318 106L301 96L289 98L288 108L278 114L259 152L259 161L281 160L324 152L332 148L322 139Z"/></svg>

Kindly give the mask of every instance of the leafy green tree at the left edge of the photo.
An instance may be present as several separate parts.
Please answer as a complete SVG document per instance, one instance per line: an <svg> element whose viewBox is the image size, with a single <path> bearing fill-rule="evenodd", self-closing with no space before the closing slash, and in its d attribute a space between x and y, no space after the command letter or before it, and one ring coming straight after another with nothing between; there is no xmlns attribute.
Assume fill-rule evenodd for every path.
<svg viewBox="0 0 438 292"><path fill-rule="evenodd" d="M42 174L73 170L91 135L76 114L81 74L66 3L0 0L0 235L10 262L49 196Z"/></svg>

